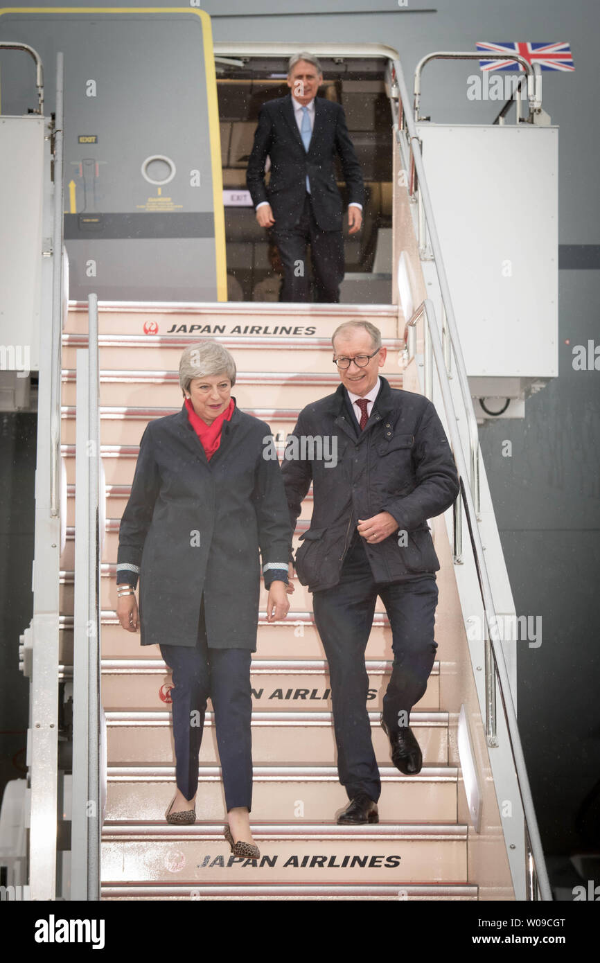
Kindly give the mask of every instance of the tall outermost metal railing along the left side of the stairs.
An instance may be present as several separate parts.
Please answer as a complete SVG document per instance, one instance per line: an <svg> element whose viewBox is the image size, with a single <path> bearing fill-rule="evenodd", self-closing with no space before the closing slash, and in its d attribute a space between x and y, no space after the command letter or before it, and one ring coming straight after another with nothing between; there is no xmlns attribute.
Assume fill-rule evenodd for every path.
<svg viewBox="0 0 600 963"><path fill-rule="evenodd" d="M43 117L43 69L39 54L24 43L2 43L0 49L23 50L37 65L39 109ZM56 65L57 110L54 124L43 119L43 205L42 231L45 237L57 235L57 217L63 218L62 116L63 56ZM22 117L27 123L27 117ZM54 152L54 156L53 156ZM60 216L57 215L60 212ZM60 226L60 225L59 225ZM59 235L62 236L62 235ZM43 246L45 247L45 245ZM51 251L39 250L40 257L51 254L50 264L42 262L39 325L39 410L36 460L36 522L33 565L34 613L29 635L24 640L23 670L30 678L27 734L29 769L28 872L30 897L54 899L57 888L57 830L59 770L59 608L60 608L60 403L61 403L61 327L63 317L64 260L62 244ZM46 270L46 269L49 269ZM51 362L54 358L54 363ZM54 482L53 482L54 478ZM54 489L53 489L54 484ZM25 639L25 637L23 637ZM31 659L27 650L31 651ZM60 871L59 871L60 872Z"/></svg>

